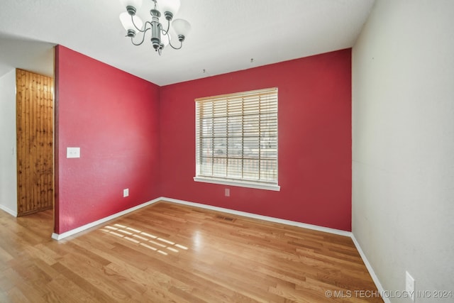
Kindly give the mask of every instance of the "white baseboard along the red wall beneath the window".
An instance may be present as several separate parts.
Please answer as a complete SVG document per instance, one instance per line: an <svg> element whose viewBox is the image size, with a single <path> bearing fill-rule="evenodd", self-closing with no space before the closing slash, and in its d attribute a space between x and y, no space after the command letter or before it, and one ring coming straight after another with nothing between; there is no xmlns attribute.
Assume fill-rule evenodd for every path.
<svg viewBox="0 0 454 303"><path fill-rule="evenodd" d="M189 206L195 206L199 207L202 209L210 209L213 211L222 211L226 212L228 214L235 214L238 216L246 216L248 218L253 218L253 219L260 219L264 221L270 221L274 223L280 223L280 224L287 224L291 226L297 226L297 227L302 227L302 228L309 228L313 229L314 231L324 231L326 233L334 233L339 236L350 236L351 233L350 231L341 231L340 229L336 228L329 228L329 227L323 227L323 226L317 226L317 225L312 225L312 224L306 224L306 223L301 223L297 221L290 221L290 220L285 220L285 219L279 219L279 218L274 218L272 216L262 216L260 214L251 214L245 211L236 211L233 209L224 209L223 207L218 207L218 206L211 206L207 204L200 204L200 203L195 203L195 202L188 202L188 201L183 201L183 200L178 200L178 199L172 199L172 198L166 198L166 197L161 197L160 199L168 202L174 202L178 204L184 204L184 205L189 205Z"/></svg>

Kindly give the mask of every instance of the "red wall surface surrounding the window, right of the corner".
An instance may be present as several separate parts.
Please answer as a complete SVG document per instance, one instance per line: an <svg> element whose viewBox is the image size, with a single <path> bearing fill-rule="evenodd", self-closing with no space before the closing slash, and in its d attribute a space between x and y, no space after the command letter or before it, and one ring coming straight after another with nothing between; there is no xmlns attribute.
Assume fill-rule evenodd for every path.
<svg viewBox="0 0 454 303"><path fill-rule="evenodd" d="M280 192L194 182L194 99L279 89ZM162 195L351 230L351 50L160 89ZM231 197L224 197L224 189Z"/></svg>

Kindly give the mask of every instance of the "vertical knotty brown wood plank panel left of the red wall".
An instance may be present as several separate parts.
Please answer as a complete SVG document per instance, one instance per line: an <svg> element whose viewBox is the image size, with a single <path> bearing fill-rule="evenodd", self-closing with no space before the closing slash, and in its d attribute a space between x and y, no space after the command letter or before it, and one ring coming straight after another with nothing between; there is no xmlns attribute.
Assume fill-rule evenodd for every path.
<svg viewBox="0 0 454 303"><path fill-rule="evenodd" d="M16 70L18 216L53 207L53 79Z"/></svg>

